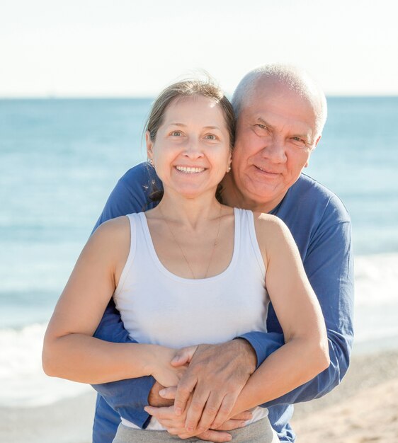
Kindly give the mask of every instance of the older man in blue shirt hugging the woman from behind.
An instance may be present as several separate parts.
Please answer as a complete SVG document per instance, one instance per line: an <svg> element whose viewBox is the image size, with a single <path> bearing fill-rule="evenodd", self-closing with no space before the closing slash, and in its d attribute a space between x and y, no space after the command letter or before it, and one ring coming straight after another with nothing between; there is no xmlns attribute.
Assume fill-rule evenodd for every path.
<svg viewBox="0 0 398 443"><path fill-rule="evenodd" d="M331 391L348 369L353 339L351 222L339 198L302 173L326 120L324 94L307 74L278 65L254 69L241 80L232 104L237 137L232 173L222 182L224 203L283 219L295 238L326 321L329 368L307 384L263 405L268 408L280 441L294 442L295 435L288 423L292 404ZM161 187L152 168L144 164L127 171L96 226L107 219L153 207L149 199L152 183ZM178 385L175 401L164 398L174 398L170 390L161 391L163 397L160 396L162 386L152 377L94 386L99 395L93 441L111 442L120 415L145 427L150 418L144 410L147 404L160 407L146 408L152 415L167 418L170 423L175 417L178 422L187 402L190 405L186 429L174 432L212 442L228 441L230 437L223 430L238 427L244 418L241 415L227 420L239 392L256 367L284 343L272 306L267 330L246 333L229 343L202 345L193 355L190 350L181 350L174 364L190 363ZM130 340L112 302L95 336L113 342ZM272 383L273 380L264 380L264 384ZM199 420L200 428L196 428ZM210 425L218 430L205 431ZM189 433L191 428L193 432Z"/></svg>

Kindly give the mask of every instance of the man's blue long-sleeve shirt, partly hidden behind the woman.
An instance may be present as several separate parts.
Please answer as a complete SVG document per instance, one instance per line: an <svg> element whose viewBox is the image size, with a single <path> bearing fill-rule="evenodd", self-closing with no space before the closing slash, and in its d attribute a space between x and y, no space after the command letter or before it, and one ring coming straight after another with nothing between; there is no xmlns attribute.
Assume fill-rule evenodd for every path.
<svg viewBox="0 0 398 443"><path fill-rule="evenodd" d="M127 171L110 194L94 229L108 219L154 207L156 204L149 199L152 182L161 188L154 170L146 163ZM292 404L328 393L348 369L353 341L351 221L339 197L305 174L292 185L271 214L282 219L295 238L309 282L321 304L329 339L329 368L294 391L263 405L268 408L268 417L280 441L294 442L295 435L288 423ZM254 331L242 336L254 347L258 365L284 344L283 331L272 305L268 311L267 330L267 333ZM113 300L94 336L110 342L133 342ZM148 403L153 384L153 377L147 376L93 386L98 392L93 442L112 442L120 416L146 427L149 415L144 405Z"/></svg>

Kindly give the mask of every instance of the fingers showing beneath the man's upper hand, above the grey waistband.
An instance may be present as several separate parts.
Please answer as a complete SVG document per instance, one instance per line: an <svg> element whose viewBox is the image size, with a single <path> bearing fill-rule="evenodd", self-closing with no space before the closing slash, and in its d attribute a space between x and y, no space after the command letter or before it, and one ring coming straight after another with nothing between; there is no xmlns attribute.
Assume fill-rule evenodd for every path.
<svg viewBox="0 0 398 443"><path fill-rule="evenodd" d="M240 413L224 422L218 430L198 429L196 432L190 433L187 432L185 428L186 414L177 416L172 406L169 408L152 408L146 406L145 410L147 413L154 416L154 418L157 418L159 423L166 427L167 432L169 432L171 435L178 435L178 437L181 439L198 437L201 440L215 443L229 442L231 440L231 435L223 431L243 427L246 425L246 420L250 420L252 418L252 414L249 411L245 411L244 413Z"/></svg>

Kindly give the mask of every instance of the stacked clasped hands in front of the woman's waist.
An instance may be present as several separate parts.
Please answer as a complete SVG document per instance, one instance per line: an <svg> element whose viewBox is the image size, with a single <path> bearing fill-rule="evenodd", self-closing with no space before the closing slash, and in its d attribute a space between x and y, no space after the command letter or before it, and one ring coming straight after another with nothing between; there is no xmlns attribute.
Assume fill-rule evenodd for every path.
<svg viewBox="0 0 398 443"><path fill-rule="evenodd" d="M163 388L157 382L145 407L171 435L228 442L231 435L225 431L243 427L251 418L249 411L232 416L256 369L255 352L246 340L186 347L176 352L171 365L186 367L178 386Z"/></svg>

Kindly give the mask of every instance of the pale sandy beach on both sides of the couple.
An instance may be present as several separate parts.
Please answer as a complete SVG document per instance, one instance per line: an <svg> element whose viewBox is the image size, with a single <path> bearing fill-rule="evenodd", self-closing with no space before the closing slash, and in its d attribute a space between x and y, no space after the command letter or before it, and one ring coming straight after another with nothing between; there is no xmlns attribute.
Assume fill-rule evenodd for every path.
<svg viewBox="0 0 398 443"><path fill-rule="evenodd" d="M0 408L2 443L89 443L94 393L25 409ZM356 352L343 383L296 405L297 443L398 442L398 351Z"/></svg>

